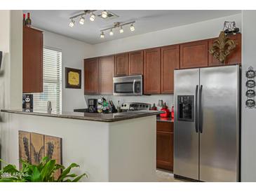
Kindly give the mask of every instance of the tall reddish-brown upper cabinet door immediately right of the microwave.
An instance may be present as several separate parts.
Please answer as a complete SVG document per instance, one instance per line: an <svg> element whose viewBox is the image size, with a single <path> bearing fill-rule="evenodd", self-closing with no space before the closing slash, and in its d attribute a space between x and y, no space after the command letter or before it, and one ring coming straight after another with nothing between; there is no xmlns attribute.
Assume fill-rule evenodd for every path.
<svg viewBox="0 0 256 192"><path fill-rule="evenodd" d="M144 94L160 93L160 48L144 50Z"/></svg>

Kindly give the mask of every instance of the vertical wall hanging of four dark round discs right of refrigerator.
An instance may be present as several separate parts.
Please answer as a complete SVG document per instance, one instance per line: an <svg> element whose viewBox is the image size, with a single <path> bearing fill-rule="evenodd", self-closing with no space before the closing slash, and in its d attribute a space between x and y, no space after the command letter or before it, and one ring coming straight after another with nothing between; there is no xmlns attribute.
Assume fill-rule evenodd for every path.
<svg viewBox="0 0 256 192"><path fill-rule="evenodd" d="M245 102L245 105L249 109L255 109L255 71L253 70L253 67L249 67L248 71L246 71L246 97L247 100Z"/></svg>

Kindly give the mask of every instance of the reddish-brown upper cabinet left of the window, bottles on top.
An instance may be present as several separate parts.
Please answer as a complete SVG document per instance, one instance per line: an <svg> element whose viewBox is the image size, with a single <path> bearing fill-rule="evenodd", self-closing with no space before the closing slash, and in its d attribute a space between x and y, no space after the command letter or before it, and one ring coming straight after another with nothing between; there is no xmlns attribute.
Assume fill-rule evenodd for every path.
<svg viewBox="0 0 256 192"><path fill-rule="evenodd" d="M43 32L23 27L22 61L23 92L43 92Z"/></svg>

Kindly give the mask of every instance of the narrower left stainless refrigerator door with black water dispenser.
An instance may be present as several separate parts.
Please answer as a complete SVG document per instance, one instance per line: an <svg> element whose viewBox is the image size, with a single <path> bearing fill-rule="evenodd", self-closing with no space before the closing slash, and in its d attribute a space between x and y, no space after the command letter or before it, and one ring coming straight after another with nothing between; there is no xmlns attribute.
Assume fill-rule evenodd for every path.
<svg viewBox="0 0 256 192"><path fill-rule="evenodd" d="M199 69L175 70L174 174L198 180L196 108Z"/></svg>

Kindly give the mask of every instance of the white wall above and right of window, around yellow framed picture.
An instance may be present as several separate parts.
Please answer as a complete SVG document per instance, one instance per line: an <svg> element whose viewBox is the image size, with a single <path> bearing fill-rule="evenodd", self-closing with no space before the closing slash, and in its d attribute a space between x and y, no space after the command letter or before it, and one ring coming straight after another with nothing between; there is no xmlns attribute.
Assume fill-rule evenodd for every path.
<svg viewBox="0 0 256 192"><path fill-rule="evenodd" d="M83 97L83 59L92 55L92 46L66 36L43 32L43 46L62 51L62 111L73 111L86 106ZM81 89L65 88L65 67L82 70Z"/></svg>

